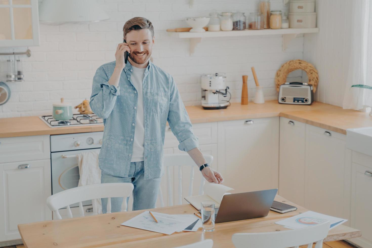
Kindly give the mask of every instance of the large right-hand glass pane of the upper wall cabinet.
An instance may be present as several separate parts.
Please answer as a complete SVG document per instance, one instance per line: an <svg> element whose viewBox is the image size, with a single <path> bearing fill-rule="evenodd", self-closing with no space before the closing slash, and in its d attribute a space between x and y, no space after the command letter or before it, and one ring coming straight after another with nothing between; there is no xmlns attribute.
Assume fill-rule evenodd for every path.
<svg viewBox="0 0 372 248"><path fill-rule="evenodd" d="M31 8L13 8L15 39L32 39Z"/></svg>

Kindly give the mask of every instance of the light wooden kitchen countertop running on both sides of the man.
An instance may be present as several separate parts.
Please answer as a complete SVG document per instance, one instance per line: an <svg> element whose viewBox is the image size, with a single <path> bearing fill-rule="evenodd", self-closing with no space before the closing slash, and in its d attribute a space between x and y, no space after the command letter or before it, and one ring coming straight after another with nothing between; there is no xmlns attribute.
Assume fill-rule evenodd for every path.
<svg viewBox="0 0 372 248"><path fill-rule="evenodd" d="M279 104L278 101L249 102L248 105L232 103L227 109L204 110L201 106L187 106L186 110L192 123L283 116L342 134L346 134L348 128L372 126L372 116L368 113L320 102L310 106ZM0 118L0 138L98 131L103 131L103 125L49 128L37 116Z"/></svg>

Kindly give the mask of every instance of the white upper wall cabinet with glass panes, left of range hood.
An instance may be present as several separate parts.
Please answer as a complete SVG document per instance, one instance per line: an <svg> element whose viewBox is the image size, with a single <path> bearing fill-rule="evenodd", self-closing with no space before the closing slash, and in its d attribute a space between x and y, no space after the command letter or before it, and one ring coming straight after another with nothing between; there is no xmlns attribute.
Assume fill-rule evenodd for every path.
<svg viewBox="0 0 372 248"><path fill-rule="evenodd" d="M0 47L38 46L38 0L0 0Z"/></svg>

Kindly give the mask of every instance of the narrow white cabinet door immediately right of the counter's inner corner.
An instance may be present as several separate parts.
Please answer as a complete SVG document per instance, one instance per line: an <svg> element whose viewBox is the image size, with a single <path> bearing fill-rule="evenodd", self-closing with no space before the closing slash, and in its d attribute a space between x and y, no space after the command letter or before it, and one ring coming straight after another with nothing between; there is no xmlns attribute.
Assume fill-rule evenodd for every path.
<svg viewBox="0 0 372 248"><path fill-rule="evenodd" d="M304 206L306 124L280 117L279 136L279 194Z"/></svg>

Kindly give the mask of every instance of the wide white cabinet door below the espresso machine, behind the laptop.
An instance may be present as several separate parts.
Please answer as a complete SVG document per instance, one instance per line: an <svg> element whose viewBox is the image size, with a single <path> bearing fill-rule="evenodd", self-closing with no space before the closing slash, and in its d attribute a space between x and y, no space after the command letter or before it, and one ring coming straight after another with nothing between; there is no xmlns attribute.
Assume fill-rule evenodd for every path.
<svg viewBox="0 0 372 248"><path fill-rule="evenodd" d="M218 122L218 171L234 193L278 188L279 117Z"/></svg>

